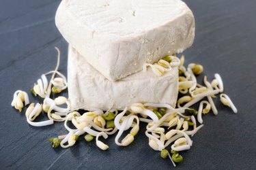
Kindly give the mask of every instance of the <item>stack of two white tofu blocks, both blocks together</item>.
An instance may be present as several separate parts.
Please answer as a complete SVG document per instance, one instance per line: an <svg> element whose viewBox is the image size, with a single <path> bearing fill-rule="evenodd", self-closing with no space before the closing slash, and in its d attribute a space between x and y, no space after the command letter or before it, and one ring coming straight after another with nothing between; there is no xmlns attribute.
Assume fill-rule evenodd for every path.
<svg viewBox="0 0 256 170"><path fill-rule="evenodd" d="M55 16L70 44L72 108L124 109L135 102L175 106L178 69L161 77L144 63L193 44L193 13L180 0L63 0Z"/></svg>

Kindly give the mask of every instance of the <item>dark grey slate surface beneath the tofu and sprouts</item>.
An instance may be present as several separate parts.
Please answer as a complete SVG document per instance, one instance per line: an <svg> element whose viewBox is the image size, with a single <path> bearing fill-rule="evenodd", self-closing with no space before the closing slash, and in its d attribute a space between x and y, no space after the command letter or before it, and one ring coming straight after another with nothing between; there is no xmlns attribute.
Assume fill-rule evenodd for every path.
<svg viewBox="0 0 256 170"><path fill-rule="evenodd" d="M110 137L106 152L83 139L72 148L53 150L47 139L65 134L63 124L29 126L24 111L19 114L10 106L15 90L29 91L41 73L55 67L54 46L61 49L60 71L66 74L68 44L54 23L59 2L0 0L0 169L173 169L147 146L145 124L126 148L115 146ZM177 169L255 169L256 1L186 2L196 20L195 43L184 53L186 63L201 63L209 78L221 73L239 113L217 100L218 116L203 117L205 126Z"/></svg>

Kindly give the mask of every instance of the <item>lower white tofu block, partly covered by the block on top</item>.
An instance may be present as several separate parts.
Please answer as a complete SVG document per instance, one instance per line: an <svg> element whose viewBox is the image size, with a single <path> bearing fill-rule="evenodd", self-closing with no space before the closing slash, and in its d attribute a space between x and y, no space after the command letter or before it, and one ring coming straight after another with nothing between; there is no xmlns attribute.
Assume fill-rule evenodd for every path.
<svg viewBox="0 0 256 170"><path fill-rule="evenodd" d="M68 98L72 109L119 109L135 102L168 103L175 106L178 70L157 77L150 68L118 81L110 81L91 67L74 48L68 52Z"/></svg>

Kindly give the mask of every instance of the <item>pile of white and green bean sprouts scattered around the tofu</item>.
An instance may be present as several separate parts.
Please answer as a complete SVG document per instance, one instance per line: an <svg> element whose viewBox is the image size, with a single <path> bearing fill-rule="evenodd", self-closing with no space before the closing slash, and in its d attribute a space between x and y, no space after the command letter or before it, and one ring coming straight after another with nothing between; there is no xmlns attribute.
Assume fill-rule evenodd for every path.
<svg viewBox="0 0 256 170"><path fill-rule="evenodd" d="M134 141L134 137L139 131L140 122L146 122L145 135L148 137L149 146L153 150L159 151L162 158L168 156L175 167L175 163L180 163L183 160L180 151L189 150L193 146L191 137L203 127L203 115L208 114L210 110L213 114L218 114L214 105L216 95L221 94L221 102L231 107L234 113L238 112L231 99L223 93L223 81L218 73L214 75L215 79L212 82L208 82L205 76L203 84L199 84L196 75L203 72L201 65L190 63L186 68L184 67L184 56L180 59L176 56L165 56L158 63L145 64L143 71L147 71L147 67L151 67L153 73L162 76L165 72L172 71L173 67L178 67L179 99L177 99L176 107L165 103L132 103L122 112L110 108L106 112L96 109L83 111L81 114L78 110L82 107L71 110L70 102L66 97L50 98L51 92L58 94L68 87L66 77L58 71L60 52L58 48L56 50L58 55L55 70L42 74L31 88L33 95L44 99L43 103L29 105L29 97L23 90L14 92L12 101L12 106L19 112L25 105L29 105L25 116L31 126L48 126L54 122L64 122L68 133L48 139L53 148L74 146L76 140L83 136L85 141L93 141L96 138L96 146L101 150L107 150L109 146L100 140L100 137L106 139L109 135L114 134L116 134L117 146L128 146ZM48 81L46 75L51 75L51 80ZM195 108L196 103L199 103L198 108ZM42 112L47 114L48 120L35 122L35 118ZM70 127L70 124L73 127ZM130 132L121 139L125 131Z"/></svg>

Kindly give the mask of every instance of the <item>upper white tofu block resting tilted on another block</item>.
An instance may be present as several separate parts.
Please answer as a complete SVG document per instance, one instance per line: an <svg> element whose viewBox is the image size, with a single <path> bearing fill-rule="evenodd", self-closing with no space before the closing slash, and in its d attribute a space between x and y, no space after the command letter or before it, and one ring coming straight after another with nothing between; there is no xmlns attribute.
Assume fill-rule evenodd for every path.
<svg viewBox="0 0 256 170"><path fill-rule="evenodd" d="M68 43L105 78L141 71L193 44L193 13L180 0L63 0L55 16Z"/></svg>

